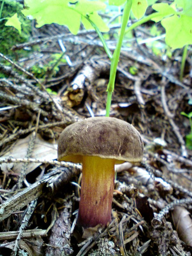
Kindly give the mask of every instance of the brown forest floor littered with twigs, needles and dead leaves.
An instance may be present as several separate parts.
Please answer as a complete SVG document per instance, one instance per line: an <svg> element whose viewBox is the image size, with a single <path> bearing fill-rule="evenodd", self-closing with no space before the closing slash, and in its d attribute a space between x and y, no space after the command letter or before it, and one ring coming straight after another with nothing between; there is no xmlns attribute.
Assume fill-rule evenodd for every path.
<svg viewBox="0 0 192 256"><path fill-rule="evenodd" d="M155 55L138 41L148 37L137 29L122 49L110 115L140 132L143 161L116 166L112 222L86 238L76 228L81 165L55 161L57 140L67 125L105 115L108 57L94 31L52 24L15 45L29 57L0 64L1 255L192 255L190 124L180 114L192 112L191 51L180 82L182 51Z"/></svg>

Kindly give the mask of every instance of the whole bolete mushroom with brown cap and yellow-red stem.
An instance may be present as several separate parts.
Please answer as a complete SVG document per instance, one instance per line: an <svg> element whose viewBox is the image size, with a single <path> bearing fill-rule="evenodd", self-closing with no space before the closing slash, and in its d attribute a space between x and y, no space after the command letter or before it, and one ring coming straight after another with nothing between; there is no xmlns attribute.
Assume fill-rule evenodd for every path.
<svg viewBox="0 0 192 256"><path fill-rule="evenodd" d="M111 221L114 165L142 158L140 133L117 118L90 117L63 130L58 160L82 163L78 225L88 228Z"/></svg>

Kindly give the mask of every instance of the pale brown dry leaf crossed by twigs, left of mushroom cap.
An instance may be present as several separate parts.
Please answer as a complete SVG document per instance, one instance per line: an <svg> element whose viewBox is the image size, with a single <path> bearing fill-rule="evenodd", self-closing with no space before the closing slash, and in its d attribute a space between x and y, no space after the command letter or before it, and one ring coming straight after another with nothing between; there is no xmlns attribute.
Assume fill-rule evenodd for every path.
<svg viewBox="0 0 192 256"><path fill-rule="evenodd" d="M24 139L18 140L14 147L11 148L9 152L5 155L0 157L0 160L12 157L12 158L26 158L27 157L27 150L29 147L29 141L31 140L31 134L28 135ZM39 160L53 160L57 158L57 144L50 143L37 134L35 140L35 146L32 151L30 158L36 158ZM12 168L13 172L20 173L23 163L19 164L0 164L2 171L8 171L9 168ZM29 163L27 166L26 174L32 172L35 168L37 168L40 164L39 163Z"/></svg>

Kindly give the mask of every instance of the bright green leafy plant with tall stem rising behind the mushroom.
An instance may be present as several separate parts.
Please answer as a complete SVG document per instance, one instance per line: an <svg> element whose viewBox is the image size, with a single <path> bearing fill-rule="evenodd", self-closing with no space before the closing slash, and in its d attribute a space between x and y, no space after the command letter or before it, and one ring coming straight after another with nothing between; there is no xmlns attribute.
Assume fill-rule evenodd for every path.
<svg viewBox="0 0 192 256"><path fill-rule="evenodd" d="M149 1L150 3L156 2ZM4 3L4 1L3 1ZM108 32L109 28L105 22L101 19L98 11L104 11L106 4L101 1L89 1L89 0L25 0L25 9L22 11L25 16L33 17L37 21L37 27L41 27L44 24L58 23L60 25L66 25L71 33L77 34L80 23L82 22L86 29L94 28L100 37L103 47L111 60L111 69L109 76L109 83L107 87L107 103L106 103L106 116L109 116L111 97L114 90L116 69L119 61L120 50L123 42L124 34L132 29L140 26L141 24L153 20L155 22L161 22L165 28L165 42L172 49L182 48L185 45L192 44L192 2L191 0L174 0L169 5L167 3L153 4L152 8L156 11L148 16L144 16L148 7L147 0L109 0L109 5L123 5L124 11L121 21L121 29L119 33L116 49L112 54L108 49L104 37L101 32ZM3 4L2 4L3 6ZM129 20L130 12L137 22L133 23L129 28L127 22ZM143 17L144 16L144 17ZM9 18L13 19L13 17ZM14 16L14 22L17 24L17 29L20 30L19 22L16 21L17 17ZM12 21L12 20L11 20ZM7 25L14 26L14 22L7 21ZM187 47L187 46L186 46ZM186 53L184 51L184 57ZM185 58L183 58L181 65L184 67Z"/></svg>

